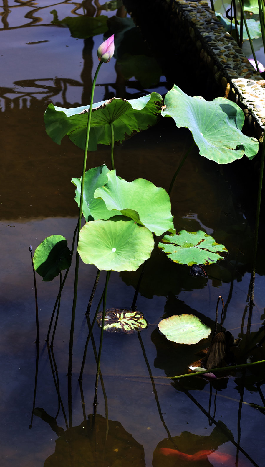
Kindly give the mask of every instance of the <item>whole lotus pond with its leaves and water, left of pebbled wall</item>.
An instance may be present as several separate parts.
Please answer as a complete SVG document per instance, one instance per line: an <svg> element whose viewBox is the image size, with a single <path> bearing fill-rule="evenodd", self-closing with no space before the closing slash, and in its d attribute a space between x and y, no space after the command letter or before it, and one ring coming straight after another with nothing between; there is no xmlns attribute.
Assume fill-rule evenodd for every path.
<svg viewBox="0 0 265 467"><path fill-rule="evenodd" d="M1 465L262 467L264 363L238 368L265 359L261 240L249 304L258 144L228 101L219 115L191 89L171 89L122 2L83 7L10 0L1 12ZM111 34L115 54L95 85L77 283L83 110ZM200 126L209 115L227 119L211 151ZM222 331L232 338L215 347L217 366L227 368L193 373L208 368L205 349Z"/></svg>

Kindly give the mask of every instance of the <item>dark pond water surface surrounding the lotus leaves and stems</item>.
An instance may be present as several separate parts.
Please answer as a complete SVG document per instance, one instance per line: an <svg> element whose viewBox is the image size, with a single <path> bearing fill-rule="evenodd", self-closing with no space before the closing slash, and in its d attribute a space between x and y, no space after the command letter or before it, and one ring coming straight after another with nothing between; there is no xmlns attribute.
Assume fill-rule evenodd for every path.
<svg viewBox="0 0 265 467"><path fill-rule="evenodd" d="M0 465L173 467L187 465L188 462L190 466L200 467L262 467L264 412L254 409L249 403L265 405L262 395L264 366L256 366L246 373L233 372L229 378L214 382L213 387L208 380L197 376L180 382L164 378L186 373L189 365L198 360L197 352L208 347L211 340L191 346L174 344L158 333L158 322L174 314L189 313L213 329L219 295L225 303L224 328L235 338L242 339L239 349L235 349L237 361L244 363L249 357L253 360L265 358L263 346L253 350L264 336L265 271L262 250L258 252L256 306L246 347L253 233L246 220L251 213L244 212L244 203L238 200L237 195L237 185L242 191L237 174L243 162L237 161L227 169L200 157L197 149L187 158L172 191L174 224L177 231L204 230L224 244L229 254L216 265L207 267L208 278L204 278L190 276L188 267L170 262L163 252L155 250L147 263L137 299L137 308L149 323L141 333L142 342L137 334L104 333L101 371L108 400L108 418L113 422L109 421L109 444L103 448L106 421L99 417L95 446L102 456L108 453L107 460L91 463L96 448L93 442L88 443L89 437L86 436L84 417L93 413L96 371L91 343L82 381L83 397L77 381L88 334L84 313L95 280L94 266L82 262L80 265L72 368L73 426L70 428L66 374L74 268L70 269L63 290L53 347L67 424L62 408L56 415L58 394L45 343L59 290L59 277L51 283L44 283L40 276L37 277L40 359L35 408L38 410L35 410L32 428L29 429L34 398L36 325L28 247L32 245L34 251L45 237L55 233L65 236L71 245L78 209L74 201L75 188L70 181L72 177L80 177L83 157L82 150L67 138L61 146L52 142L45 132L43 114L49 102L65 107L89 102L91 76L97 67L96 50L103 41L102 35L85 41L76 39L71 37L68 28L51 24L51 10L56 9L61 20L65 16L82 14L82 8L77 7L80 4L76 2L48 5L47 0L38 3L5 1L2 7ZM116 11L103 11L102 14L111 17ZM113 58L109 64L102 65L94 100L99 102L115 94L132 99L152 90L162 94L167 91L163 75L156 86L144 82L144 79L142 81L143 85L134 77L126 81ZM147 178L168 189L192 139L189 131L177 129L173 120L163 120L115 149L119 176L128 181ZM88 168L102 163L110 168L107 146L99 146L98 151L88 157ZM248 162L245 163L247 166ZM246 198L249 195L246 193ZM113 272L107 307L130 308L138 277L139 271ZM105 272L102 272L91 319L104 281ZM95 327L97 348L99 335L100 329ZM246 348L249 351L245 351ZM209 425L207 412L211 391L211 416L215 422L222 422L220 431L215 428L215 423ZM105 417L105 402L99 386L97 414L102 417ZM225 438L225 433L230 440ZM219 459L210 456L208 461L183 461L156 451L152 461L158 443L169 437L174 438L175 445L168 440L159 447L176 449L177 446L179 451L192 455L202 449L213 450L220 446L215 454L226 455L219 456ZM123 444L119 439L125 439ZM122 446L125 446L124 452ZM115 456L121 453L122 460L117 460Z"/></svg>

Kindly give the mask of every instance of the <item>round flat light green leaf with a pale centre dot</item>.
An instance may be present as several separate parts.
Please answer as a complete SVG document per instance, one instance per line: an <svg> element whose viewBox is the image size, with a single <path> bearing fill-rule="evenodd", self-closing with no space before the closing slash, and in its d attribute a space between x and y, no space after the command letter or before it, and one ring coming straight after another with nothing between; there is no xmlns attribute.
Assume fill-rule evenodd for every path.
<svg viewBox="0 0 265 467"><path fill-rule="evenodd" d="M151 232L121 216L116 220L93 220L80 231L78 253L82 261L102 270L135 271L151 255Z"/></svg>

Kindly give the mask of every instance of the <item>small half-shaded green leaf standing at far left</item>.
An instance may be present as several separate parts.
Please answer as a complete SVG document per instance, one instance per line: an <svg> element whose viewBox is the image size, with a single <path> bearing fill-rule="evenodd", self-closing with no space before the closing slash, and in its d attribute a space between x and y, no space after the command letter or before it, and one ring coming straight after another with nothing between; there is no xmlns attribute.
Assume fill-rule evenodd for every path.
<svg viewBox="0 0 265 467"><path fill-rule="evenodd" d="M35 271L44 282L58 276L60 271L71 265L71 252L61 235L51 235L41 242L33 256Z"/></svg>

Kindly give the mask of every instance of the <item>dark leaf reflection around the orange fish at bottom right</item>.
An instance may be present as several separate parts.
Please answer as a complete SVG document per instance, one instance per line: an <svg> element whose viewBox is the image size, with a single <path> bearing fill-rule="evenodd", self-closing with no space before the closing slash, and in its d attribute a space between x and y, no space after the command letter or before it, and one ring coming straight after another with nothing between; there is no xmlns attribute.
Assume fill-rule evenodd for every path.
<svg viewBox="0 0 265 467"><path fill-rule="evenodd" d="M225 432L227 432L227 436L225 435ZM202 450L215 451L219 446L226 443L226 441L231 438L231 431L228 430L223 422L219 421L209 436L198 436L190 432L183 432L180 436L175 436L172 439L175 446L177 446L181 453L192 455ZM187 465L187 460L184 459L184 456L183 459L181 456L165 456L163 451L160 451L161 448L175 449L170 439L166 438L163 439L163 441L160 441L154 451L152 462L153 467L164 467L165 465L167 467L182 467ZM189 460L188 465L189 467L212 466L208 459L194 462Z"/></svg>

